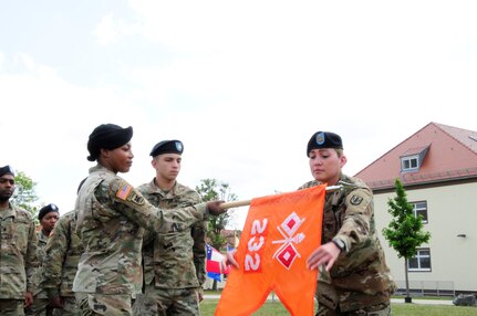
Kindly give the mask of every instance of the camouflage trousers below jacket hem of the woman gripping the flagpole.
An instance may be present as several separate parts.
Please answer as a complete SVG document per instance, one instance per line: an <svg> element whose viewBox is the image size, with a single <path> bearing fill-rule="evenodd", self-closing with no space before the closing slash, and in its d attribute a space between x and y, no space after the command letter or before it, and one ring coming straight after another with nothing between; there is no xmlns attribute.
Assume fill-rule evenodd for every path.
<svg viewBox="0 0 477 316"><path fill-rule="evenodd" d="M81 316L132 316L131 295L75 293Z"/></svg>

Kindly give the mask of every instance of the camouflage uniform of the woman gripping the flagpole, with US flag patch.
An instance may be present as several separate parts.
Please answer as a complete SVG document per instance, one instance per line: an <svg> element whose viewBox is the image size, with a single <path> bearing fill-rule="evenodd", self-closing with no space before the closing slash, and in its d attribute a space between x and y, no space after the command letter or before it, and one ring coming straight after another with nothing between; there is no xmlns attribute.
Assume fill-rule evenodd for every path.
<svg viewBox="0 0 477 316"><path fill-rule="evenodd" d="M76 199L76 230L84 246L73 282L83 315L132 315L131 302L143 281L144 229L169 232L174 221L193 224L205 218L206 203L176 211L170 220L121 177L101 165Z"/></svg>

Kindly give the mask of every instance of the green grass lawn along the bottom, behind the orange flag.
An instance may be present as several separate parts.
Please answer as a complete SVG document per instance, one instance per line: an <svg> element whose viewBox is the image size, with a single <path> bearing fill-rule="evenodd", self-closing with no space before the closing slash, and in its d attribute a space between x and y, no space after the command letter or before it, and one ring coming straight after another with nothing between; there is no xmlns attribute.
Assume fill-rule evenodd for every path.
<svg viewBox="0 0 477 316"><path fill-rule="evenodd" d="M204 299L200 303L200 313L204 316L214 315L218 299ZM477 307L423 305L423 304L393 304L393 316L470 316L477 315ZM267 302L259 310L259 316L290 315L280 302Z"/></svg>

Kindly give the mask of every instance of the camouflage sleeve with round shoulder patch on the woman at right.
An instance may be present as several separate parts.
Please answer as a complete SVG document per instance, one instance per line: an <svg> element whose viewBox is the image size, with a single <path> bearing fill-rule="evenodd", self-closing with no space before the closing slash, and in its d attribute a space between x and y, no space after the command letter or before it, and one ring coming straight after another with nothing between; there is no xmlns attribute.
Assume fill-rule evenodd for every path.
<svg viewBox="0 0 477 316"><path fill-rule="evenodd" d="M346 193L346 210L336 238L346 244L346 250L361 243L370 234L373 217L373 193L367 188L357 188Z"/></svg>

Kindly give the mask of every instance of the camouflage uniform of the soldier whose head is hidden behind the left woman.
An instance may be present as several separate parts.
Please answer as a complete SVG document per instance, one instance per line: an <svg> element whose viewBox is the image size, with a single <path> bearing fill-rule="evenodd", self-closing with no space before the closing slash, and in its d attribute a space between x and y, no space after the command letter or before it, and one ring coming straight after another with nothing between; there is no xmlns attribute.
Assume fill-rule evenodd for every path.
<svg viewBox="0 0 477 316"><path fill-rule="evenodd" d="M76 213L68 212L60 217L44 250L43 275L41 287L51 299L61 297L63 308L55 308L54 316L79 315L73 292L83 244L75 233Z"/></svg>

